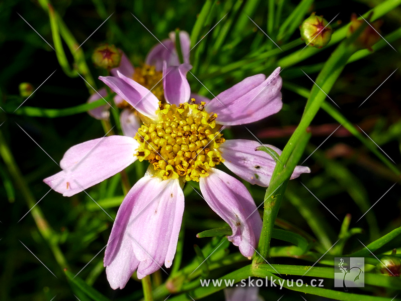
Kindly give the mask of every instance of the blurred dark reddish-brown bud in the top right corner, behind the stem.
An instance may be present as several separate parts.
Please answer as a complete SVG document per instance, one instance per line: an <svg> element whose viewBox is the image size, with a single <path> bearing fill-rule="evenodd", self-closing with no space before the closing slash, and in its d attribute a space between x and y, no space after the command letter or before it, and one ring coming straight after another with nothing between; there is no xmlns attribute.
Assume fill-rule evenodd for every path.
<svg viewBox="0 0 401 301"><path fill-rule="evenodd" d="M370 19L370 16L367 18ZM365 20L358 20L356 14L351 15L351 25L347 32L347 37L351 36L364 22ZM376 44L380 40L380 27L383 24L381 20L376 20L373 23L369 23L369 25L365 28L365 30L359 35L355 44L358 48L365 49L367 48L370 51L373 51L372 46Z"/></svg>

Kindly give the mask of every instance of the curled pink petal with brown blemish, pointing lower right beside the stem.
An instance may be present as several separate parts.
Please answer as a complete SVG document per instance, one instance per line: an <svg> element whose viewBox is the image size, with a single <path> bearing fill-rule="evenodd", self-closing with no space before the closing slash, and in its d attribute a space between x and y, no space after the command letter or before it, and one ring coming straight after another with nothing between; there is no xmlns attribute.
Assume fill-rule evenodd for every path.
<svg viewBox="0 0 401 301"><path fill-rule="evenodd" d="M247 188L237 179L211 168L209 176L200 178L200 189L207 204L232 229L229 241L251 257L262 231L262 219Z"/></svg>

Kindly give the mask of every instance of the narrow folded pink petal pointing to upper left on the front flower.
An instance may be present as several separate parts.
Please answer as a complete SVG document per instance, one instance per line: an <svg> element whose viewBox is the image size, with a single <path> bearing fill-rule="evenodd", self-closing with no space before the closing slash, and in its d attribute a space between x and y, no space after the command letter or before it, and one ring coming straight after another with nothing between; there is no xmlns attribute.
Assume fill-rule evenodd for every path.
<svg viewBox="0 0 401 301"><path fill-rule="evenodd" d="M141 114L156 118L158 99L148 89L117 71L118 77L99 76L99 79L125 99Z"/></svg>

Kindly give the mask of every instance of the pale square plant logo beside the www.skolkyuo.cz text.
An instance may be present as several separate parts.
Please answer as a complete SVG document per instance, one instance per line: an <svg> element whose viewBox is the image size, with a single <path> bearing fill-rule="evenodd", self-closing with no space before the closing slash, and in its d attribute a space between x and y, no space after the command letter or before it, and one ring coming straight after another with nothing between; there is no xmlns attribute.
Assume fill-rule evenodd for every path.
<svg viewBox="0 0 401 301"><path fill-rule="evenodd" d="M335 257L334 258L334 287L364 287L365 258L363 257Z"/></svg>

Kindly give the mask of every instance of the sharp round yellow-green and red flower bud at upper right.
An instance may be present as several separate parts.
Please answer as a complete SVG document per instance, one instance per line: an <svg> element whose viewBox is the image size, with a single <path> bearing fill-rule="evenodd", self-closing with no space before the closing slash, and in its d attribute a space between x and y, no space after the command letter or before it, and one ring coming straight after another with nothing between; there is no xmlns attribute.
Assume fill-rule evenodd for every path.
<svg viewBox="0 0 401 301"><path fill-rule="evenodd" d="M301 39L310 47L322 48L326 46L333 33L333 29L328 24L322 16L315 16L315 13L312 13L299 27Z"/></svg>

